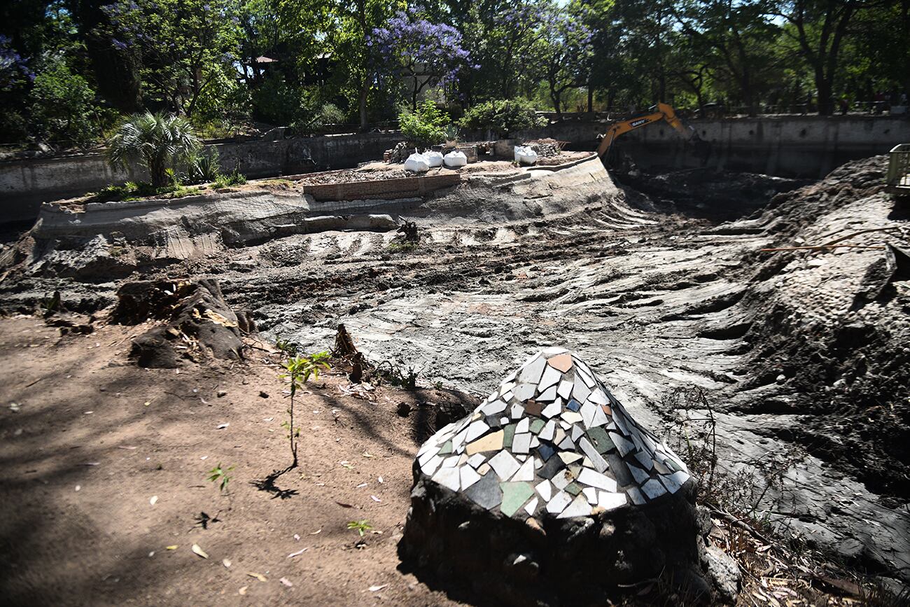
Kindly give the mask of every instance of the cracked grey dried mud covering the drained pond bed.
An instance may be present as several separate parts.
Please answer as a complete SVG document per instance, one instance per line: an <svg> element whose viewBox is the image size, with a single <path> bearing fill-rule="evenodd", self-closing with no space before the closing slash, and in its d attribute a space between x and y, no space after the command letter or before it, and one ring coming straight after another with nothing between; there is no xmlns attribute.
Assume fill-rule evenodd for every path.
<svg viewBox="0 0 910 607"><path fill-rule="evenodd" d="M870 158L776 195L799 184L751 176L770 203L722 224L705 216L743 214L730 176L702 177L673 208L665 183L652 199L601 177L506 176L400 213L422 229L410 252L389 248L391 231L322 231L145 277L216 277L266 336L304 349L326 349L344 323L370 359L419 370L425 385L480 394L541 347L571 348L658 433L708 413L672 399L700 387L719 465L771 485L757 511L907 581L910 275L883 247L908 248L910 213L881 191L884 173L885 158ZM686 216L693 187L712 205ZM760 251L844 236L875 248ZM22 309L62 288L91 309L114 287L25 272L0 285L0 303Z"/></svg>

